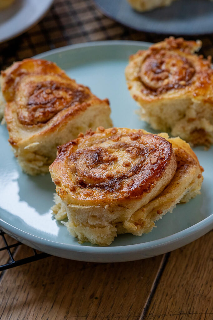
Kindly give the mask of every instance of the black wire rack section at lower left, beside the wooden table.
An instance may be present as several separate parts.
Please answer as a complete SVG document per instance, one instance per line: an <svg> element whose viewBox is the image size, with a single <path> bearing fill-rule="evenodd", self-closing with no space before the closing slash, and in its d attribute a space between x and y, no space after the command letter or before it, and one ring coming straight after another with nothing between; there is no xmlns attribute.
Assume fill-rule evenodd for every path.
<svg viewBox="0 0 213 320"><path fill-rule="evenodd" d="M1 253L7 251L9 257L8 257L7 263L5 263L3 265L0 265L0 271L6 270L6 269L10 269L10 268L14 268L14 267L17 267L17 266L21 266L22 264L33 262L33 261L40 260L40 259L43 259L43 258L47 258L47 257L50 256L48 253L44 253L44 252L38 253L35 249L31 248L32 252L33 252L33 254L31 256L29 256L27 258L24 258L24 259L20 259L20 260L15 260L14 259L14 253L15 252L12 253L11 252L11 248L15 248L15 247L18 247L18 246L23 245L23 244L20 243L20 242L16 242L14 244L10 244L9 245L7 243L4 231L2 231L0 229L0 240L1 239L3 240L4 246L2 248L0 248L0 255L1 255ZM0 258L1 258L1 256L0 256Z"/></svg>

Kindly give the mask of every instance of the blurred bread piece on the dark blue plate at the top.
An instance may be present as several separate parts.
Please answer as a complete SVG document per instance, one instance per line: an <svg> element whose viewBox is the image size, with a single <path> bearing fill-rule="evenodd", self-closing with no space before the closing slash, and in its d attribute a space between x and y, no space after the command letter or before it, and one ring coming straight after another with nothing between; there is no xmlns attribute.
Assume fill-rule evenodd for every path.
<svg viewBox="0 0 213 320"><path fill-rule="evenodd" d="M140 12L170 5L175 0L128 0L131 6Z"/></svg>

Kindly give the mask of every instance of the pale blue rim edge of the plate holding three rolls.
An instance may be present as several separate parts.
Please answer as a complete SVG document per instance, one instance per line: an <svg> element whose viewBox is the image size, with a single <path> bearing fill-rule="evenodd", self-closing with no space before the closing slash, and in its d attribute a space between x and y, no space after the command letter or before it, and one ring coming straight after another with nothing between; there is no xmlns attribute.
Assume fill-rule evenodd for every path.
<svg viewBox="0 0 213 320"><path fill-rule="evenodd" d="M150 43L142 42L142 41L132 41L132 40L108 40L108 41L94 41L94 42L86 42L86 43L80 43L80 44L71 44L68 46L64 46L61 48L56 48L53 50L49 50L43 53L40 53L33 58L45 58L49 54L52 53L60 53L64 51L69 51L72 49L77 48L84 48L89 46L103 46L103 45L139 45L139 46L149 46ZM33 242L34 244L38 245L45 245L51 248L55 249L62 249L67 252L80 252L80 253L87 253L87 254L107 254L111 255L116 252L119 253L136 253L136 252L144 252L148 251L149 249L155 249L162 246L167 246L169 244L176 244L180 239L185 239L187 237L193 236L194 233L202 231L202 235L207 233L208 231L213 228L213 212L203 220L197 222L196 224L181 230L179 232L173 233L170 236L166 236L160 239L139 243L139 244L127 244L127 245L121 245L121 246L85 246L85 245L77 245L77 244L65 244L65 243L59 243L53 240L48 240L36 235L33 235L31 233L28 233L24 230L21 230L15 226L12 226L10 223L2 220L0 218L0 227L4 228L4 230L8 231L9 233L13 234L14 236L18 236L23 240ZM198 236L197 238L199 238ZM196 239L197 239L196 238ZM191 242L191 241L189 241ZM189 243L188 242L188 243ZM182 245L180 245L182 246ZM139 258L141 259L141 258Z"/></svg>

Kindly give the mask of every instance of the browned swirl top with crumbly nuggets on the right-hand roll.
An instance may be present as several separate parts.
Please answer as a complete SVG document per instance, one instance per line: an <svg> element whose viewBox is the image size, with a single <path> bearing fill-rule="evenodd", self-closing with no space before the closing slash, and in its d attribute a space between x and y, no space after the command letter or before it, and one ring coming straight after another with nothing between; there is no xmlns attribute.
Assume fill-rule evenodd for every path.
<svg viewBox="0 0 213 320"><path fill-rule="evenodd" d="M193 50L194 44L194 50ZM196 81L205 84L212 74L210 60L192 52L194 41L173 37L151 46L145 53L139 71L144 94L158 95L171 89L185 88Z"/></svg>

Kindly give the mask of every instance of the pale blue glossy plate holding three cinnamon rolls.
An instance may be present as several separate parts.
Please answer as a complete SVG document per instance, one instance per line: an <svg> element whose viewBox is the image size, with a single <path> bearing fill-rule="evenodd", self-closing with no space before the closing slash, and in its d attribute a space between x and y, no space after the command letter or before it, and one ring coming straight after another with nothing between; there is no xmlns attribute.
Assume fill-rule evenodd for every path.
<svg viewBox="0 0 213 320"><path fill-rule="evenodd" d="M148 44L109 41L72 45L40 54L55 61L78 83L89 85L100 98L111 102L115 126L152 131L134 113L137 104L126 88L124 69L128 57ZM119 235L109 247L78 244L64 225L52 218L55 187L50 175L24 174L7 142L5 126L0 127L0 226L19 241L41 251L82 261L109 262L143 259L179 248L199 238L213 226L213 148L195 148L204 167L202 194L179 204L156 222L157 228L143 236ZM208 244L207 244L208 245Z"/></svg>

